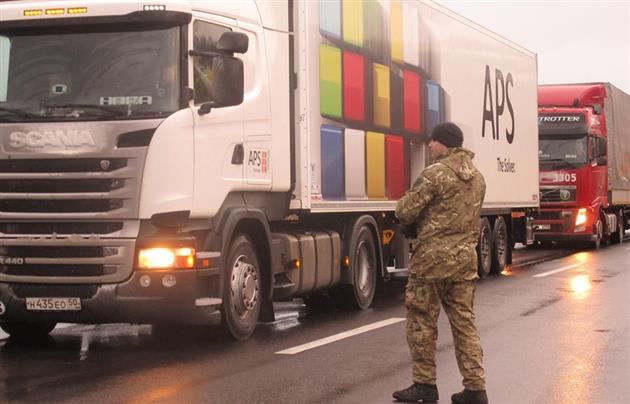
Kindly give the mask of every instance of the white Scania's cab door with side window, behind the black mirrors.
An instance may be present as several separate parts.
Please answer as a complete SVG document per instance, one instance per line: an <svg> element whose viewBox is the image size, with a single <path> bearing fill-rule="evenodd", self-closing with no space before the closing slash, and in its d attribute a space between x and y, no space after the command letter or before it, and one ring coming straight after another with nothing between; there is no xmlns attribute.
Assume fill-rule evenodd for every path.
<svg viewBox="0 0 630 404"><path fill-rule="evenodd" d="M237 30L235 20L193 14L190 47L216 52L221 35ZM243 105L212 108L209 113L200 114L201 106L212 101L207 85L212 80L212 59L189 56L189 77L190 87L194 89L195 147L191 216L208 217L218 211L230 192L240 190L244 184Z"/></svg>

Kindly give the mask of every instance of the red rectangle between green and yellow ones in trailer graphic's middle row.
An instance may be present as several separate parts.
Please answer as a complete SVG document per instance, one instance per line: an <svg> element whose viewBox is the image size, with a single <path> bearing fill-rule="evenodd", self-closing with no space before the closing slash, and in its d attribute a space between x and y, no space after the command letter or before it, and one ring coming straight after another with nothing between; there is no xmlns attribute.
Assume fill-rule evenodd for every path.
<svg viewBox="0 0 630 404"><path fill-rule="evenodd" d="M343 51L343 116L365 121L365 59L349 51Z"/></svg>

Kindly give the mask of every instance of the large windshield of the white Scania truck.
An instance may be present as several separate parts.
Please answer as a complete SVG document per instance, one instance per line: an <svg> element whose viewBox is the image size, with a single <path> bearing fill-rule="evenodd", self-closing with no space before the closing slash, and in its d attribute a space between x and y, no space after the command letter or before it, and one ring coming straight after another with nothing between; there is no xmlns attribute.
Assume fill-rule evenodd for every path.
<svg viewBox="0 0 630 404"><path fill-rule="evenodd" d="M180 105L179 32L0 31L0 122L173 113Z"/></svg>

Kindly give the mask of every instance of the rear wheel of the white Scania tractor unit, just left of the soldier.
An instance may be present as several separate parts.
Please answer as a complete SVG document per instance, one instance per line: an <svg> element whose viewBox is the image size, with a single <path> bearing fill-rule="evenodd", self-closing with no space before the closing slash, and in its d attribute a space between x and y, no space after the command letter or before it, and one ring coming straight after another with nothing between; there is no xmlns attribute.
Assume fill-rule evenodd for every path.
<svg viewBox="0 0 630 404"><path fill-rule="evenodd" d="M376 292L376 247L368 226L361 226L350 246L352 285L339 285L338 302L344 308L365 310Z"/></svg>

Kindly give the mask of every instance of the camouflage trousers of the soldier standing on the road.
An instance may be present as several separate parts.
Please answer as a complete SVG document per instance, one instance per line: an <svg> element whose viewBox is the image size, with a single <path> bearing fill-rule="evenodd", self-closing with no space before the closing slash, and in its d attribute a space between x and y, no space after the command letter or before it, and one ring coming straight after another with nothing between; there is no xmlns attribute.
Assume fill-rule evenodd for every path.
<svg viewBox="0 0 630 404"><path fill-rule="evenodd" d="M455 357L464 386L470 390L485 390L483 350L475 327L474 300L475 281L426 281L409 277L405 305L414 383L436 384L437 321L442 305L451 323Z"/></svg>

